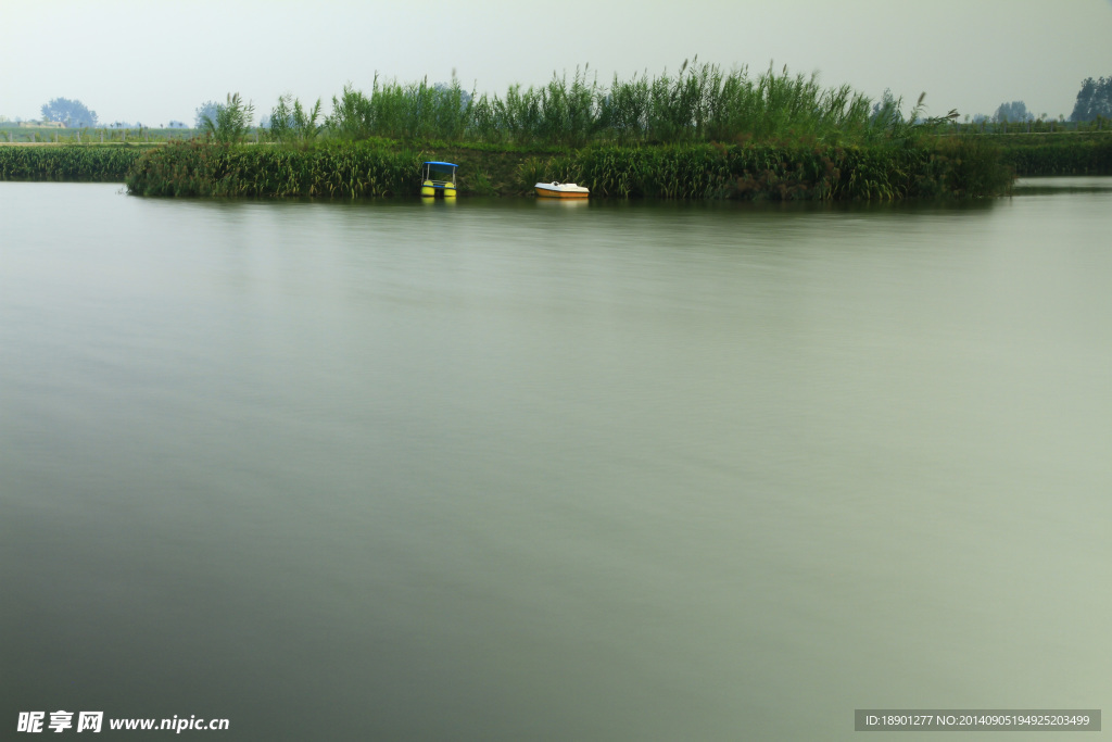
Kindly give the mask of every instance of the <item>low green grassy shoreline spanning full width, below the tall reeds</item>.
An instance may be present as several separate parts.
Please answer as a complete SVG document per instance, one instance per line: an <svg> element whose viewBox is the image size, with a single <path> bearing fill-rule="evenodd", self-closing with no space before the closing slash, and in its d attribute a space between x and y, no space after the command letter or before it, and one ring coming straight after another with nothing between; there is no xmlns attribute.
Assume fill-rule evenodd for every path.
<svg viewBox="0 0 1112 742"><path fill-rule="evenodd" d="M902 144L407 146L387 139L312 145L0 146L0 180L127 182L151 196L364 198L417 194L423 159L460 167L460 192L530 195L574 180L596 196L751 200L992 197L1015 176L1112 175L1112 133L923 137Z"/></svg>

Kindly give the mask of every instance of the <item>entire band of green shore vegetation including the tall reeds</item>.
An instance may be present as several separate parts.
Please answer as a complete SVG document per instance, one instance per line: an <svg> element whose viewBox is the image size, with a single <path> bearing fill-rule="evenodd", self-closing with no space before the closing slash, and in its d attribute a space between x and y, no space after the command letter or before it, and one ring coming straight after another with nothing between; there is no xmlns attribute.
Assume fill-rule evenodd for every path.
<svg viewBox="0 0 1112 742"><path fill-rule="evenodd" d="M1072 130L963 125L953 110L924 117L924 96L905 113L891 95L873 101L786 67L751 76L685 61L608 86L577 69L505 96L468 92L455 78L376 77L369 92L348 86L331 102L324 116L320 100L282 96L255 126L255 107L229 93L195 130L120 130L105 141L103 131L82 140L56 128L42 137L56 146L0 148L0 179L353 199L416 196L421 162L438 160L459 164L463 196L532 196L537 182L574 181L604 198L887 201L999 196L1017 175L1112 172L1102 117Z"/></svg>

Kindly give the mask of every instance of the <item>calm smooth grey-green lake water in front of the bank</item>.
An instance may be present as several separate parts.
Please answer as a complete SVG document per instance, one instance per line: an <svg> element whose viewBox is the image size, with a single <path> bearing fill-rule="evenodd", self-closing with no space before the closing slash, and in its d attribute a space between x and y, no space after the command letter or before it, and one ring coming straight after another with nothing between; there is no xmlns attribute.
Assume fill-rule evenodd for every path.
<svg viewBox="0 0 1112 742"><path fill-rule="evenodd" d="M850 740L854 709L1112 708L1112 181L1036 185L0 182L2 735L67 710Z"/></svg>

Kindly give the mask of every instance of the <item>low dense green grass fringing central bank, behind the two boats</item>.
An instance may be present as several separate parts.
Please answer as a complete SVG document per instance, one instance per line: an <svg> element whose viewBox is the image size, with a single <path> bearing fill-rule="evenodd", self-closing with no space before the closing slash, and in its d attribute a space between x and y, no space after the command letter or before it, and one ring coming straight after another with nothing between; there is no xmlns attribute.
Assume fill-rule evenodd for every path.
<svg viewBox="0 0 1112 742"><path fill-rule="evenodd" d="M416 152L365 142L312 147L201 142L151 149L128 175L147 196L416 195L426 158L459 162L460 190L532 192L574 180L596 196L681 199L895 200L1006 192L1012 174L981 138L876 145L593 145L560 155L447 148Z"/></svg>

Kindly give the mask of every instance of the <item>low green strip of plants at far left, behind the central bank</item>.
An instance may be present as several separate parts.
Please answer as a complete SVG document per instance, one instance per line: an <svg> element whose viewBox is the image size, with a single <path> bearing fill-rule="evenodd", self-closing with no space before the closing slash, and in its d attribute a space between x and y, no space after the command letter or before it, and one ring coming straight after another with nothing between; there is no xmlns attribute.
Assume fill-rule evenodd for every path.
<svg viewBox="0 0 1112 742"><path fill-rule="evenodd" d="M0 147L0 180L123 182L146 150L118 145Z"/></svg>

